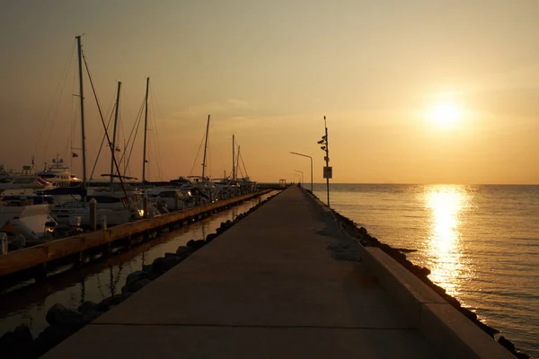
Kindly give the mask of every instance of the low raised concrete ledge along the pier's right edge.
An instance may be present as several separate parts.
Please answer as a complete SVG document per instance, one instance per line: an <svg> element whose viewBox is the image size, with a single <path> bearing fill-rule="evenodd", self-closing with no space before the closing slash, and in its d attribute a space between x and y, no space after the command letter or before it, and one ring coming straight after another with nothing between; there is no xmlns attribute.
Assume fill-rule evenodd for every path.
<svg viewBox="0 0 539 359"><path fill-rule="evenodd" d="M309 193L323 210L332 213L313 193ZM335 218L335 221L339 221ZM515 358L488 334L439 296L383 250L365 247L362 260L378 278L385 291L398 302L405 315L447 357L455 358ZM527 355L526 355L527 356Z"/></svg>

